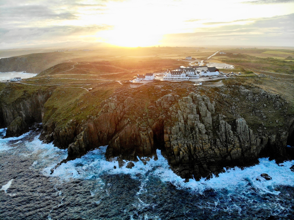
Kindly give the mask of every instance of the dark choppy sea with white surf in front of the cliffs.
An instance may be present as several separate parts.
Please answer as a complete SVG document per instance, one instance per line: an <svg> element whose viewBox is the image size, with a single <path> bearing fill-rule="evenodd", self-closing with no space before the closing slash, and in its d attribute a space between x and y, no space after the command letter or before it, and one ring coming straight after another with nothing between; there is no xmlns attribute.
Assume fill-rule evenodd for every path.
<svg viewBox="0 0 294 220"><path fill-rule="evenodd" d="M5 130L0 130L0 136ZM208 181L173 174L164 157L113 169L106 147L50 169L67 156L39 132L0 139L0 219L294 219L294 161L267 158ZM273 179L256 180L261 173Z"/></svg>

